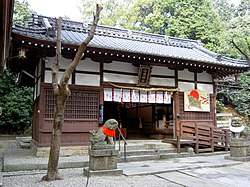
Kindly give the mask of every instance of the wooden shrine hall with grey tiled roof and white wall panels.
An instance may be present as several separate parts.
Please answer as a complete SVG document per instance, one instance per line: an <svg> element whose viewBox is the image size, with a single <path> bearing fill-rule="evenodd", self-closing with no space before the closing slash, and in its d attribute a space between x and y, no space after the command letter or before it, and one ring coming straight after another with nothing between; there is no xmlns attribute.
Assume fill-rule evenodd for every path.
<svg viewBox="0 0 250 187"><path fill-rule="evenodd" d="M60 75L89 29L63 20ZM10 58L7 66L34 88L32 147L38 152L50 145L53 123L56 19L33 15L27 27L13 26L11 42L10 56L22 58ZM61 145L87 147L89 131L113 118L127 139L171 139L178 147L188 139L199 152L197 137L203 135L197 133L203 132L203 146L225 147L226 132L216 127L214 80L248 68L246 60L214 53L198 41L98 25L70 78Z"/></svg>

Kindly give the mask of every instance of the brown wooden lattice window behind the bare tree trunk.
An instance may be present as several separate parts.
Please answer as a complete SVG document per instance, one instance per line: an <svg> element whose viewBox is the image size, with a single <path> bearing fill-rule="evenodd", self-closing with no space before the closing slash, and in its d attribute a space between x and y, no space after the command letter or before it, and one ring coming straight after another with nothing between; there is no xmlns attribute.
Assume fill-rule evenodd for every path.
<svg viewBox="0 0 250 187"><path fill-rule="evenodd" d="M54 95L52 90L45 91L45 118L54 116ZM72 91L64 111L65 119L98 119L99 93Z"/></svg>

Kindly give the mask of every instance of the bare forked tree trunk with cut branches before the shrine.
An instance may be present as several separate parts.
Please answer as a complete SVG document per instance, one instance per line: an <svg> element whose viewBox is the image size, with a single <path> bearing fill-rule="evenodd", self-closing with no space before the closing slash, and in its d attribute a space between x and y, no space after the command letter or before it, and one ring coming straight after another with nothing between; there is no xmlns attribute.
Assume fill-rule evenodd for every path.
<svg viewBox="0 0 250 187"><path fill-rule="evenodd" d="M70 96L70 90L68 88L68 81L79 61L83 57L84 50L86 49L89 42L93 39L94 33L99 21L100 12L102 7L98 4L96 5L96 13L94 15L93 23L91 25L90 31L87 38L81 43L78 51L75 55L74 60L65 70L60 83L58 84L57 72L60 69L61 64L61 28L62 28L62 18L58 19L57 26L57 50L56 50L56 61L52 68L52 86L55 96L55 111L54 111L54 121L51 136L50 154L48 161L47 175L45 175L42 180L52 181L61 179L58 174L58 162L60 155L60 143L61 134L64 123L64 108L68 97Z"/></svg>

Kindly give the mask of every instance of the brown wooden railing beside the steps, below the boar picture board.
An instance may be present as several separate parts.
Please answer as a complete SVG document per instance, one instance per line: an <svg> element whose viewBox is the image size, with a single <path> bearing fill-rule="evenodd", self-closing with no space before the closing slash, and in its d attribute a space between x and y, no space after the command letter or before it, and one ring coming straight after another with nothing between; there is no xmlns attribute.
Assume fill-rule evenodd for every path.
<svg viewBox="0 0 250 187"><path fill-rule="evenodd" d="M229 130L215 126L205 126L201 124L179 123L177 132L177 152L181 152L182 144L190 144L194 147L195 153L214 152L216 148L228 151Z"/></svg>

